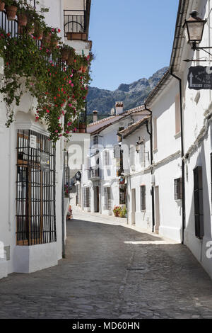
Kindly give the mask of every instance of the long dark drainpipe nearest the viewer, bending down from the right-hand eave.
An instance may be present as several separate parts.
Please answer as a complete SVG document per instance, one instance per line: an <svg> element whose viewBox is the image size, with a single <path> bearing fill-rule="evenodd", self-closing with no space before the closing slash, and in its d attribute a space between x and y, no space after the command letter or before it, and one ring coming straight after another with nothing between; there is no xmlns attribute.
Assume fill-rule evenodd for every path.
<svg viewBox="0 0 212 333"><path fill-rule="evenodd" d="M170 74L179 81L179 101L180 101L180 130L181 130L181 157L182 157L182 244L184 244L184 226L185 226L185 190L184 190L184 137L183 137L183 124L182 124L182 79L172 73Z"/></svg>

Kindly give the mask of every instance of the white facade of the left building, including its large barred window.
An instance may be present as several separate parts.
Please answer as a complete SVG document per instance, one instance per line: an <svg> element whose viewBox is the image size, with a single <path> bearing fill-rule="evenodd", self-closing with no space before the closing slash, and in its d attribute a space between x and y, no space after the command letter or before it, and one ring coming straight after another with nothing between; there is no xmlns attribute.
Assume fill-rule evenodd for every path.
<svg viewBox="0 0 212 333"><path fill-rule="evenodd" d="M76 4L69 1L69 9L75 9L71 7L73 2ZM90 1L84 2L90 13ZM65 42L64 1L43 0L40 4L49 6L46 22L60 28ZM86 55L88 38L83 43L80 45L85 47L84 51L83 48L79 51L79 46L78 52ZM2 59L1 65L2 77ZM35 121L31 110L37 101L29 92L23 94L19 106L14 106L15 122L10 128L5 125L3 95L0 98L0 278L3 278L12 272L30 273L57 265L62 258L66 238L66 208L62 208L61 196L65 146L63 138L54 146L45 123Z"/></svg>

